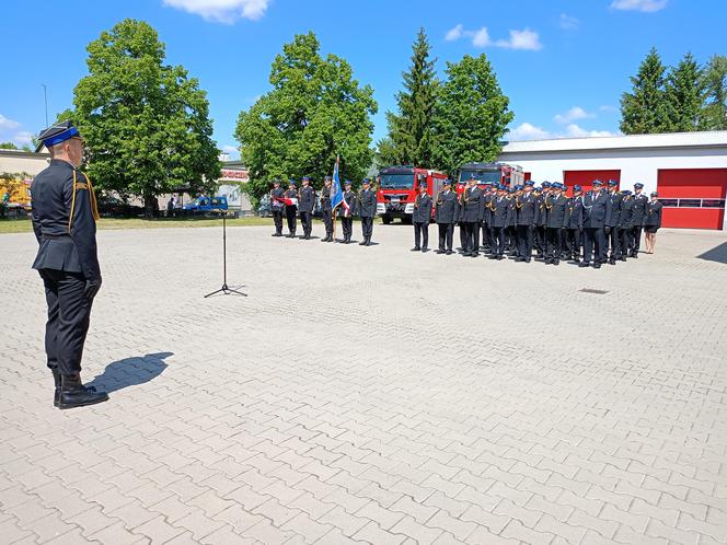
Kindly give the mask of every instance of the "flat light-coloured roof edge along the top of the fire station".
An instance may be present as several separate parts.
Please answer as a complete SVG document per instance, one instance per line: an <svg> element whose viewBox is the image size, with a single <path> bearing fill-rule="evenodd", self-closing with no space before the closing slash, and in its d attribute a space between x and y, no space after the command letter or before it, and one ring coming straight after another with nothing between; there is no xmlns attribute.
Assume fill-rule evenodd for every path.
<svg viewBox="0 0 727 545"><path fill-rule="evenodd" d="M507 142L503 153L714 147L727 147L727 130L523 140Z"/></svg>

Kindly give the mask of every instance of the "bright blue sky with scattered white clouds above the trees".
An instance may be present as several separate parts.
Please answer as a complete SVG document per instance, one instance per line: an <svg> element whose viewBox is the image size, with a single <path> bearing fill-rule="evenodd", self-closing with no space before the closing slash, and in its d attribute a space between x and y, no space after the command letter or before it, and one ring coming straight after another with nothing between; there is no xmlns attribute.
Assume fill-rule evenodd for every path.
<svg viewBox="0 0 727 545"><path fill-rule="evenodd" d="M199 79L228 150L239 112L269 89L275 55L310 30L374 89L374 141L419 26L440 72L487 54L516 114L511 140L618 132L619 97L651 46L666 63L727 54L724 0L4 0L0 141L26 143L44 127L42 84L51 120L70 106L85 46L124 18L151 24L168 62Z"/></svg>

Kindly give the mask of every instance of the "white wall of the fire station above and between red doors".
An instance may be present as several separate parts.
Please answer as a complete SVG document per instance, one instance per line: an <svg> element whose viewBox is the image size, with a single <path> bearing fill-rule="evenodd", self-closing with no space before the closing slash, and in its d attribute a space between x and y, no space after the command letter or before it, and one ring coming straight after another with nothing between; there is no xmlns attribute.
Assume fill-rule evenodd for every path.
<svg viewBox="0 0 727 545"><path fill-rule="evenodd" d="M727 169L727 147L589 151L503 151L498 161L520 165L535 182L563 182L565 171L620 170L621 189L657 189L660 169Z"/></svg>

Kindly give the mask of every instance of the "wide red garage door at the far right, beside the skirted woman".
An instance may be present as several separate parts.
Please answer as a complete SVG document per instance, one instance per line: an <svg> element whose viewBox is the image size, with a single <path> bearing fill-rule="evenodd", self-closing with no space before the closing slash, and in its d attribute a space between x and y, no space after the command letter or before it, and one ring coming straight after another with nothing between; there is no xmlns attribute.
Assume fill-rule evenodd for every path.
<svg viewBox="0 0 727 545"><path fill-rule="evenodd" d="M657 190L663 202L663 227L722 229L727 169L661 170Z"/></svg>

